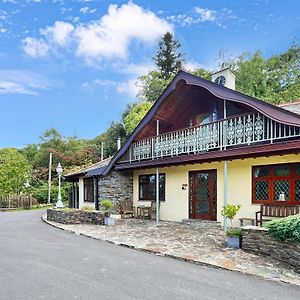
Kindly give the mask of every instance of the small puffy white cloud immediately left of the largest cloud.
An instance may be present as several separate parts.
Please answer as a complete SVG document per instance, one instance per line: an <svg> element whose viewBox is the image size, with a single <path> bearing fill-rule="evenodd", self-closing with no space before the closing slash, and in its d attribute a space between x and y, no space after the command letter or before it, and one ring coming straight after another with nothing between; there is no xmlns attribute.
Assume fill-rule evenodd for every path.
<svg viewBox="0 0 300 300"><path fill-rule="evenodd" d="M71 40L73 30L72 24L56 21L53 26L41 29L40 33L47 38L48 43L66 46Z"/></svg>

